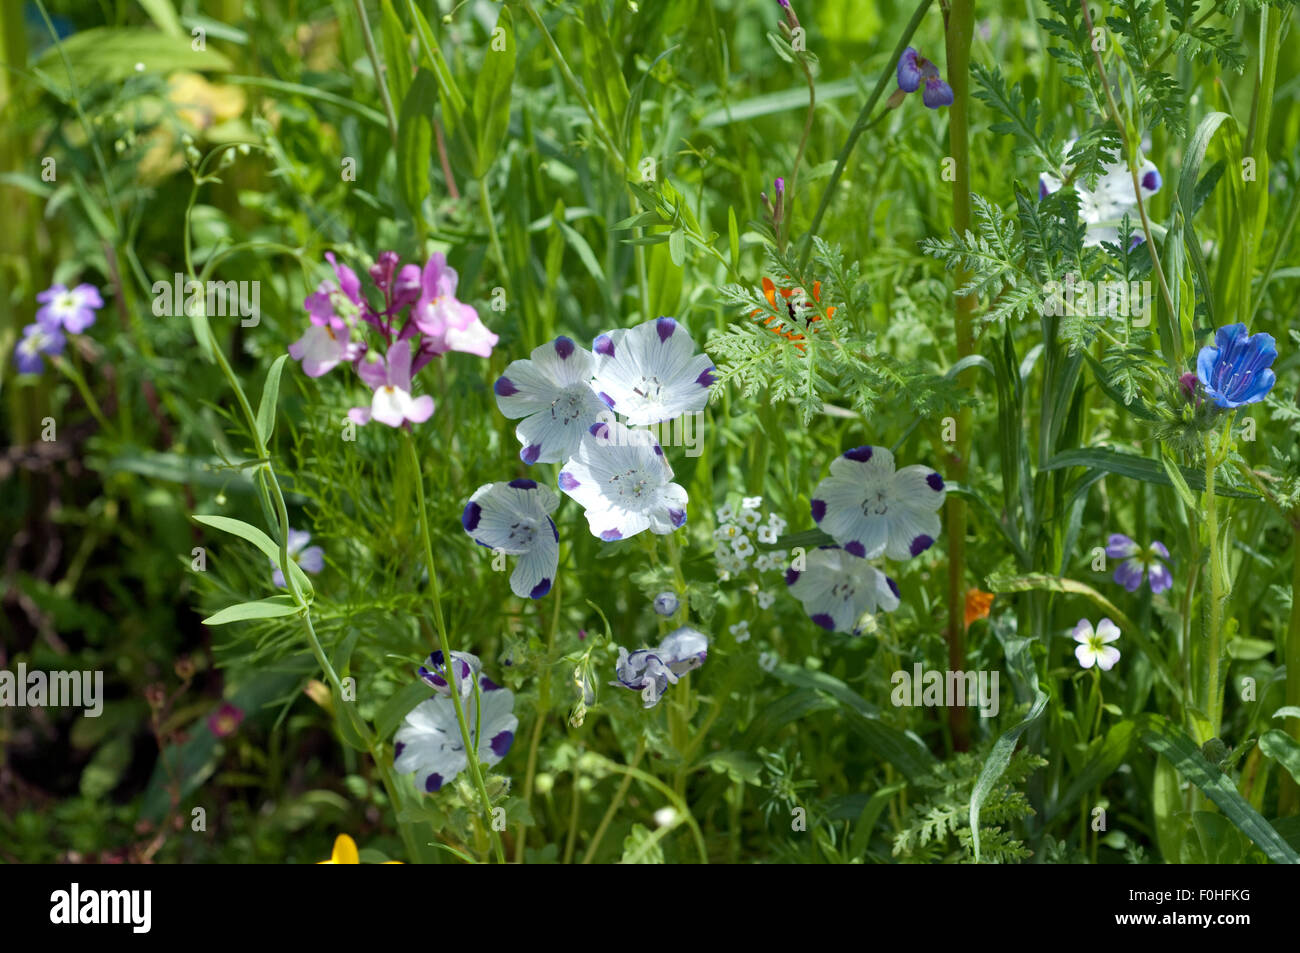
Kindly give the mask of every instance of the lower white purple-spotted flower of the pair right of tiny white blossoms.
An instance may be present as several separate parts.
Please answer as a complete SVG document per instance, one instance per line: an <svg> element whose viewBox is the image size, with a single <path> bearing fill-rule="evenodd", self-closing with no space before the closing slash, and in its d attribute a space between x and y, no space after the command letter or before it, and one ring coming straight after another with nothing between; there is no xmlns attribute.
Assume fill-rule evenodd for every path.
<svg viewBox="0 0 1300 953"><path fill-rule="evenodd" d="M863 615L898 608L898 585L838 546L812 550L802 572L785 572L785 585L809 618L829 632L861 634Z"/></svg>

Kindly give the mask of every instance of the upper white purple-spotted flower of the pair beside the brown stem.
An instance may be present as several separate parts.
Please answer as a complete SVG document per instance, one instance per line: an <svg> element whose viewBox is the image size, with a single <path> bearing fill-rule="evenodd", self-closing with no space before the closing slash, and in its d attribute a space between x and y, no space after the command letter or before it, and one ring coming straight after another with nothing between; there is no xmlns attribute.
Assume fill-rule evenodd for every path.
<svg viewBox="0 0 1300 953"><path fill-rule="evenodd" d="M944 497L944 478L930 467L896 472L885 447L854 447L818 484L812 519L855 556L909 559L935 543Z"/></svg>

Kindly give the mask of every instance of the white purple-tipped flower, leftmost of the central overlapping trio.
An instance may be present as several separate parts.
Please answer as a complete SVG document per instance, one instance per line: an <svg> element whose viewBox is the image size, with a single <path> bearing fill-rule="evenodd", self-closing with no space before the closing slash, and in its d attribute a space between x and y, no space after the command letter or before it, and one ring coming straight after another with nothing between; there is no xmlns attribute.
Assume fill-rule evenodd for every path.
<svg viewBox="0 0 1300 953"><path fill-rule="evenodd" d="M592 390L595 358L569 338L559 337L511 361L493 390L507 417L523 417L515 437L524 463L563 463L582 442L604 404Z"/></svg>

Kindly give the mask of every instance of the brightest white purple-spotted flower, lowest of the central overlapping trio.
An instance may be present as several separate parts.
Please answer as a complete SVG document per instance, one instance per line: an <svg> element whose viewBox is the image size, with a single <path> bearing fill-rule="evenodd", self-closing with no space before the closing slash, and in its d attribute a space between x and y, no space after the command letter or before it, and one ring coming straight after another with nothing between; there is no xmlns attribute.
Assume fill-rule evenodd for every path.
<svg viewBox="0 0 1300 953"><path fill-rule="evenodd" d="M644 529L664 536L686 523L686 490L649 430L594 424L568 463L559 486L586 510L593 536L627 540Z"/></svg>

